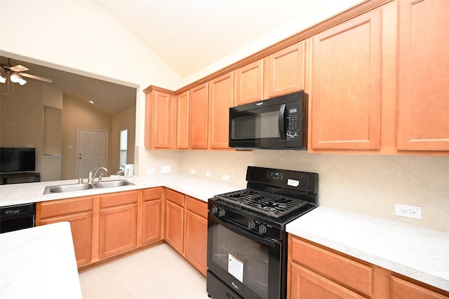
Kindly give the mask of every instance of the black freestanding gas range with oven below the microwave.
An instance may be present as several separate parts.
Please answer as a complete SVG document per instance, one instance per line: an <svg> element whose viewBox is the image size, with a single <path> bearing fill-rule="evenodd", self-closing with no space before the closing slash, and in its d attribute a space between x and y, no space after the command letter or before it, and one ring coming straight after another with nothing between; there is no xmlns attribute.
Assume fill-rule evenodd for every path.
<svg viewBox="0 0 449 299"><path fill-rule="evenodd" d="M317 207L318 174L248 166L247 188L208 200L207 291L284 299L286 224Z"/></svg>

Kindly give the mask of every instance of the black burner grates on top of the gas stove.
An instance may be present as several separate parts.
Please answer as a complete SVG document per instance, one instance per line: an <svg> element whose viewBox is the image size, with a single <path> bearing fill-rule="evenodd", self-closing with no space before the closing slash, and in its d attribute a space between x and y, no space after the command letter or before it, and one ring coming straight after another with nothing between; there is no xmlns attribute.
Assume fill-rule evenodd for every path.
<svg viewBox="0 0 449 299"><path fill-rule="evenodd" d="M274 218L280 218L308 203L306 200L252 189L243 189L215 196L239 207L246 207Z"/></svg>

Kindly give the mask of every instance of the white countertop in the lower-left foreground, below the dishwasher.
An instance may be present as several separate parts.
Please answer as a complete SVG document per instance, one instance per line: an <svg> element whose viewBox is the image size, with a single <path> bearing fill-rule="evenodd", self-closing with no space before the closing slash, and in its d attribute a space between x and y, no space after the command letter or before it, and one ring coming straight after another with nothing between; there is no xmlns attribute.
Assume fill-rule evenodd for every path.
<svg viewBox="0 0 449 299"><path fill-rule="evenodd" d="M0 298L82 298L70 223L0 235Z"/></svg>

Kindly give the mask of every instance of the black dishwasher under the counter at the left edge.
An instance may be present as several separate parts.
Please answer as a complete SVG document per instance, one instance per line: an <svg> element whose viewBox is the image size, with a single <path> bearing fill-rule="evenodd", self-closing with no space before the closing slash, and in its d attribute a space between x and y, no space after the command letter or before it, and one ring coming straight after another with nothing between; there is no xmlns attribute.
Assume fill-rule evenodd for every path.
<svg viewBox="0 0 449 299"><path fill-rule="evenodd" d="M0 207L0 233L34 227L35 203Z"/></svg>

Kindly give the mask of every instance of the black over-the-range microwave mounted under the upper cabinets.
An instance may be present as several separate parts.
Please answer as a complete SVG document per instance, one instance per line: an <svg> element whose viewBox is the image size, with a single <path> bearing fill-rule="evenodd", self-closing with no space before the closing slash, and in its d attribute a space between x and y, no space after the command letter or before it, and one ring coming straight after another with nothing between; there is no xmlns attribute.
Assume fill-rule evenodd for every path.
<svg viewBox="0 0 449 299"><path fill-rule="evenodd" d="M303 91L229 108L229 147L307 148L307 94Z"/></svg>

